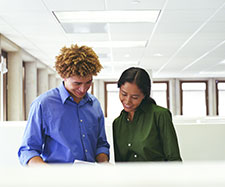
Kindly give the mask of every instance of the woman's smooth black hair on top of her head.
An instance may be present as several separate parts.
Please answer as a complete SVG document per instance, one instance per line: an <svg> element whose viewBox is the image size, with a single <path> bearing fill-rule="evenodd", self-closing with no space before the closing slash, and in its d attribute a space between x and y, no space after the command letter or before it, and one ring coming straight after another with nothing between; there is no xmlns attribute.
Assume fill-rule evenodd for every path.
<svg viewBox="0 0 225 187"><path fill-rule="evenodd" d="M126 69L117 82L118 88L126 82L135 83L144 94L145 98L150 97L151 79L144 69L138 67Z"/></svg>

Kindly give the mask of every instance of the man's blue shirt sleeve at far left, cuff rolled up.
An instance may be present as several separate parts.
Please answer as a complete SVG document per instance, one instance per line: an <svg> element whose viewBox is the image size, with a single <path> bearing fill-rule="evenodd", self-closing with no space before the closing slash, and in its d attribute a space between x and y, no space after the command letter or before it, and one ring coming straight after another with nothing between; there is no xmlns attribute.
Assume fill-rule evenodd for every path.
<svg viewBox="0 0 225 187"><path fill-rule="evenodd" d="M22 139L22 145L18 151L18 157L22 165L26 165L32 157L40 156L42 153L42 121L41 104L34 102L30 108L27 125Z"/></svg>

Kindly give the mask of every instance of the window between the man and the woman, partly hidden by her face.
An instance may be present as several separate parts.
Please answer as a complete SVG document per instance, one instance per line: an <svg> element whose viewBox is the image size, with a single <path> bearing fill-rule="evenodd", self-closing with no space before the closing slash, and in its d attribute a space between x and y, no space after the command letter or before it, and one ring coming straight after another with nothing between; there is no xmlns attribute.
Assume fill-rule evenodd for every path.
<svg viewBox="0 0 225 187"><path fill-rule="evenodd" d="M105 82L105 117L116 118L120 115L123 106L119 99L117 82Z"/></svg>

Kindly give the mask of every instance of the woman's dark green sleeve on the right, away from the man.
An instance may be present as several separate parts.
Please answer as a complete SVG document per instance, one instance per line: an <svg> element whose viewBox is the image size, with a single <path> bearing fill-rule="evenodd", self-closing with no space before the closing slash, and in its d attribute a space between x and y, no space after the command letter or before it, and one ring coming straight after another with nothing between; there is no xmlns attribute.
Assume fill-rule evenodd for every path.
<svg viewBox="0 0 225 187"><path fill-rule="evenodd" d="M158 127L163 144L163 151L167 161L181 161L177 135L169 110L163 110L158 116Z"/></svg>

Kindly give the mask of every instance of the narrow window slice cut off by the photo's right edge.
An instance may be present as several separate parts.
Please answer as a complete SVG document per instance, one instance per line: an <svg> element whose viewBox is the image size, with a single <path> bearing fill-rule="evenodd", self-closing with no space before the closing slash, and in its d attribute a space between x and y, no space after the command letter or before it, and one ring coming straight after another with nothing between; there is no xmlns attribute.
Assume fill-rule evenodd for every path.
<svg viewBox="0 0 225 187"><path fill-rule="evenodd" d="M225 80L216 81L216 114L225 116Z"/></svg>

